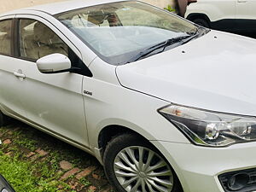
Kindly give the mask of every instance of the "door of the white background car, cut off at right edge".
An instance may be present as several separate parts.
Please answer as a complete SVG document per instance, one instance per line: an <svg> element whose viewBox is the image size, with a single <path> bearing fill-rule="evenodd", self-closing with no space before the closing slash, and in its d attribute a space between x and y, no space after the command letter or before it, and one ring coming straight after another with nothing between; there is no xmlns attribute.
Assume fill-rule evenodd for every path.
<svg viewBox="0 0 256 192"><path fill-rule="evenodd" d="M236 25L240 31L256 32L255 0L236 0Z"/></svg>

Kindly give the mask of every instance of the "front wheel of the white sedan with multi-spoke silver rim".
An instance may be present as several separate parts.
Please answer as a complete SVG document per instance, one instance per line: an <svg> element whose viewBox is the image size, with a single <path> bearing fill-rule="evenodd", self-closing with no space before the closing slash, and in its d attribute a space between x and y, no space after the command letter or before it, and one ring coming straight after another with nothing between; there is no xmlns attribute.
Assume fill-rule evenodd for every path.
<svg viewBox="0 0 256 192"><path fill-rule="evenodd" d="M136 134L114 137L108 143L103 162L106 176L116 191L183 191L176 173L163 155Z"/></svg>

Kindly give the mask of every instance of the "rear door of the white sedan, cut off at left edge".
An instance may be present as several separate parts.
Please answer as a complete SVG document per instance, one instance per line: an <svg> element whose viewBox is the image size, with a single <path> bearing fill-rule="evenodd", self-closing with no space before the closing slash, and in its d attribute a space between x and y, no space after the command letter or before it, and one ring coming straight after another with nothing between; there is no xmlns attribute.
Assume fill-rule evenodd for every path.
<svg viewBox="0 0 256 192"><path fill-rule="evenodd" d="M0 110L24 119L26 111L20 86L23 79L14 55L14 18L15 15L10 15L0 19Z"/></svg>

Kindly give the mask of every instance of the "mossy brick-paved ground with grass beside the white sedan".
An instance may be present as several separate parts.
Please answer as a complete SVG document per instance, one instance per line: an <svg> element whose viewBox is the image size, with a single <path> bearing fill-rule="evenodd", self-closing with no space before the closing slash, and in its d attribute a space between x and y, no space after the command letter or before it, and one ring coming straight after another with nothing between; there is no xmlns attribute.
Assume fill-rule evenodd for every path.
<svg viewBox="0 0 256 192"><path fill-rule="evenodd" d="M9 162L7 167L14 166L12 169L17 170L10 176L9 172L1 170L3 162L0 162L0 172L11 181L17 192L113 191L102 166L93 156L42 131L13 120L11 125L0 128L0 138L3 142L0 146L0 157L3 158L0 161ZM32 186L20 186L26 179L20 178L19 181L22 174L28 174L27 182Z"/></svg>

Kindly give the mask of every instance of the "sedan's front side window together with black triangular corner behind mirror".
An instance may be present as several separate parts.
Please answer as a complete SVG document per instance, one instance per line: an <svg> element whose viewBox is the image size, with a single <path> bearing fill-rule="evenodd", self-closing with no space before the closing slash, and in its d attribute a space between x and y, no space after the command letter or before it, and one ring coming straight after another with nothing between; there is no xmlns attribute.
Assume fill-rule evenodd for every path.
<svg viewBox="0 0 256 192"><path fill-rule="evenodd" d="M74 73L92 77L79 56L55 32L38 20L20 19L19 44L21 59L37 61L46 55L59 53L70 59Z"/></svg>

